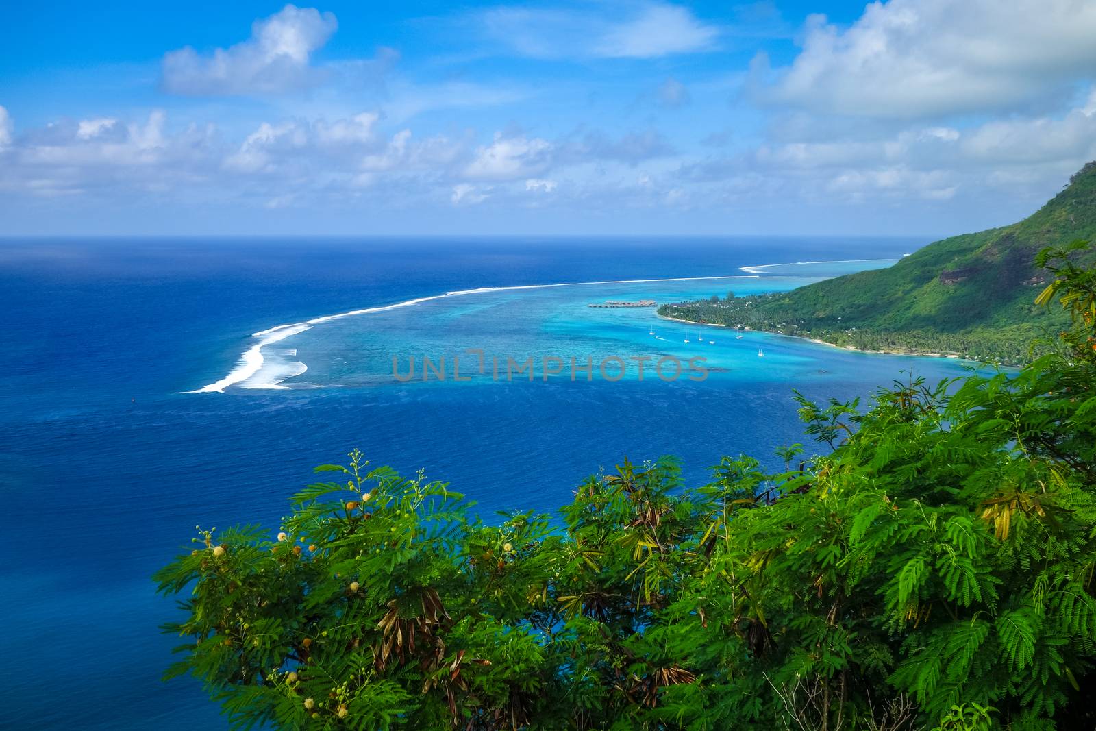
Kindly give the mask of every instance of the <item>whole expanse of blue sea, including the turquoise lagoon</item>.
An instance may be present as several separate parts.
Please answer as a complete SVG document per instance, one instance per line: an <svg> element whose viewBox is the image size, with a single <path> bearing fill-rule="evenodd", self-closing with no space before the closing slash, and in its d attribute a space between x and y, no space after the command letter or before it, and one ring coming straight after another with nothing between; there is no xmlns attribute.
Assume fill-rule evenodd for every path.
<svg viewBox="0 0 1096 731"><path fill-rule="evenodd" d="M196 524L275 528L311 467L351 448L449 481L490 519L518 506L551 511L625 456L677 455L694 484L724 454L775 465L774 447L803 441L792 388L866 397L902 370L931 380L963 373L955 361L763 333L738 340L651 310L587 307L787 289L881 264L740 267L897 259L926 242L0 240L0 610L10 628L0 726L224 728L195 683L159 679L179 640L158 631L174 609L150 575L189 550ZM237 369L259 342L252 333L276 325L480 287L715 276L737 278L500 289L346 317L263 349L264 369L224 392L187 392ZM719 370L700 382L650 372L609 382L596 365L589 382L567 368L545 381L539 365L533 382L391 378L392 357L406 369L410 357L465 349L537 363L700 355ZM274 384L288 388L247 388Z"/></svg>

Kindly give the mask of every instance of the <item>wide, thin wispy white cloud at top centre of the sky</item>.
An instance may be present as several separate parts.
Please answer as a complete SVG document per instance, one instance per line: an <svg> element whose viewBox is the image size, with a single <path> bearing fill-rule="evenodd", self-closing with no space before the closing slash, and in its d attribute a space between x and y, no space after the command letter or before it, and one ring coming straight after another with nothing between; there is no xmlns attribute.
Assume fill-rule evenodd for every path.
<svg viewBox="0 0 1096 731"><path fill-rule="evenodd" d="M688 9L650 2L625 18L602 10L493 8L470 24L512 52L533 58L658 58L711 50L719 28Z"/></svg>

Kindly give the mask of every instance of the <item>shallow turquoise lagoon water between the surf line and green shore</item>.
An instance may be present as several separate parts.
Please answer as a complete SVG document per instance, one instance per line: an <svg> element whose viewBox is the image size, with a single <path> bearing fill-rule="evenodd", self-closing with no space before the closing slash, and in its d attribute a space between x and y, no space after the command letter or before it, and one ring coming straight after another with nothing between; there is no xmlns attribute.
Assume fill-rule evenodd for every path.
<svg viewBox="0 0 1096 731"><path fill-rule="evenodd" d="M829 374L819 367L820 361L840 356L820 353L818 349L825 346L769 333L662 319L654 307L592 305L675 302L731 290L739 295L781 292L893 261L812 262L749 267L749 273L717 277L533 285L412 299L406 306L335 313L316 324L286 323L274 328L274 333L261 332L255 344L289 334L261 346L261 367L249 368L244 363L227 376L239 379L236 382L215 381L204 388L358 388L401 382L421 388L430 380L482 385L528 380L529 374L541 382L670 381L680 374L681 378L715 378L724 384L798 384ZM530 359L532 368L518 372ZM444 372L443 364L447 366Z"/></svg>

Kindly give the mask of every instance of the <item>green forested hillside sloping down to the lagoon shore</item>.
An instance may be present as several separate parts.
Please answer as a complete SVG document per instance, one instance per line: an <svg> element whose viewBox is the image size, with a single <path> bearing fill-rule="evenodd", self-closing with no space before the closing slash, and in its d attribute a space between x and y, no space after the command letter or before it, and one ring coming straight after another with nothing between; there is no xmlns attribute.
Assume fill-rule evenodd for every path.
<svg viewBox="0 0 1096 731"><path fill-rule="evenodd" d="M1035 255L1096 238L1096 162L1012 226L931 243L893 266L792 292L666 305L665 317L818 338L864 350L956 353L1019 363L1064 327L1034 304ZM1092 258L1093 254L1086 254Z"/></svg>

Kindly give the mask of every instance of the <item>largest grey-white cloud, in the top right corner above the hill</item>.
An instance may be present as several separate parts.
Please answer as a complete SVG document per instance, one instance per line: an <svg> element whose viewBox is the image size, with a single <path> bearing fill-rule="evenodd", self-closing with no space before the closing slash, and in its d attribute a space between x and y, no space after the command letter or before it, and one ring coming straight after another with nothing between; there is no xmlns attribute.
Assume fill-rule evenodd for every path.
<svg viewBox="0 0 1096 731"><path fill-rule="evenodd" d="M1091 77L1093 37L1096 3L1080 0L875 2L847 30L812 16L761 98L887 118L1020 108ZM755 82L768 76L760 57Z"/></svg>

